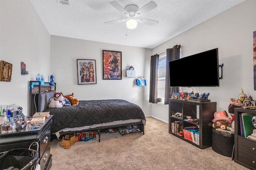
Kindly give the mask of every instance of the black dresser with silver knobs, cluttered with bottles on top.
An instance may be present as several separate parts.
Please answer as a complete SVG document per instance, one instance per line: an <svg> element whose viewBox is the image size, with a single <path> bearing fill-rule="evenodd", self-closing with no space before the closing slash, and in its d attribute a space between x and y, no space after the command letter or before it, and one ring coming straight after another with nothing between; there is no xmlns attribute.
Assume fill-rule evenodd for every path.
<svg viewBox="0 0 256 170"><path fill-rule="evenodd" d="M8 151L13 148L29 148L32 142L39 144L39 158L41 170L49 170L52 166L52 155L50 154L50 125L52 116L45 119L44 123L31 130L0 134L0 152Z"/></svg>

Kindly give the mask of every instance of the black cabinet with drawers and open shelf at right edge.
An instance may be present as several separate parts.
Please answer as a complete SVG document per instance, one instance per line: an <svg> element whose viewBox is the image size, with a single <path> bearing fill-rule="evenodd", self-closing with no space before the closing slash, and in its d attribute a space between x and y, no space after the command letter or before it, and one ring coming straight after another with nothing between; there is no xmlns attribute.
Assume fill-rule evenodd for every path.
<svg viewBox="0 0 256 170"><path fill-rule="evenodd" d="M251 113L256 115L256 111L251 109L235 108L235 150L234 161L238 164L256 170L256 141L241 136L240 115ZM256 128L255 128L256 129ZM250 134L249 134L250 135Z"/></svg>

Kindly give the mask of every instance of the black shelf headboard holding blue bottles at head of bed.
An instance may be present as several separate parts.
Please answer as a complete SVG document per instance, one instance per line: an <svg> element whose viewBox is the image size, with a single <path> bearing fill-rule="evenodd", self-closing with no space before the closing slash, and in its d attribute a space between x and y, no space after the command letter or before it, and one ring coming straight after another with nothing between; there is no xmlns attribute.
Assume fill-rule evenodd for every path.
<svg viewBox="0 0 256 170"><path fill-rule="evenodd" d="M44 82L41 85L40 81L30 81L29 83L29 116L33 116L36 112L41 112L41 94L49 93L52 90L56 90L56 83L50 85L50 82Z"/></svg>

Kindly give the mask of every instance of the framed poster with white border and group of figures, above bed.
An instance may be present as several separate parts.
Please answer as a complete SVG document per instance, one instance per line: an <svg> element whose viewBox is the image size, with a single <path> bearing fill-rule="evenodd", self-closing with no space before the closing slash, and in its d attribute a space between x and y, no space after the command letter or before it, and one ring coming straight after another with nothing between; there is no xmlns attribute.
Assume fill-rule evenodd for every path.
<svg viewBox="0 0 256 170"><path fill-rule="evenodd" d="M96 84L96 60L77 59L78 84Z"/></svg>

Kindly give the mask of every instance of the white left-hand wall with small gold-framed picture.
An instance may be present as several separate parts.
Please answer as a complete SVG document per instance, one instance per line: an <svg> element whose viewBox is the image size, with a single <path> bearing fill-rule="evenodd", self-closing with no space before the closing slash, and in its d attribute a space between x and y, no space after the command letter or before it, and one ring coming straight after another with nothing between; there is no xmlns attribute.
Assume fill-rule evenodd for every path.
<svg viewBox="0 0 256 170"><path fill-rule="evenodd" d="M28 0L0 0L0 60L12 64L11 82L0 82L0 104L16 104L28 115L28 82L50 70L50 34ZM22 76L21 63L29 74Z"/></svg>

